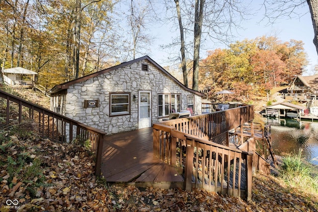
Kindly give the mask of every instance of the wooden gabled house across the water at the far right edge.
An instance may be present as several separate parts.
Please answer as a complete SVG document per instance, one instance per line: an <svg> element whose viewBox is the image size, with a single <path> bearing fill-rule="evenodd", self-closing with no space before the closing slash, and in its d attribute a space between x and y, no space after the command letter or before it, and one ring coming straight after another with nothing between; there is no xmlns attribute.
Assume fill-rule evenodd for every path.
<svg viewBox="0 0 318 212"><path fill-rule="evenodd" d="M296 76L287 88L286 100L309 101L317 99L318 96L318 74L312 76Z"/></svg>

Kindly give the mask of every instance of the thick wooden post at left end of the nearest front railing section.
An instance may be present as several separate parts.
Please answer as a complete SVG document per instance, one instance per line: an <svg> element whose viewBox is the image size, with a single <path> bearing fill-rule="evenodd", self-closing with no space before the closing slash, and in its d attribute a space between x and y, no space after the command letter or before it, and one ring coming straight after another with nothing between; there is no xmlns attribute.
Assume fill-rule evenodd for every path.
<svg viewBox="0 0 318 212"><path fill-rule="evenodd" d="M186 155L185 155L185 179L184 189L186 191L192 190L192 171L193 171L193 156L194 156L194 141L186 140Z"/></svg>

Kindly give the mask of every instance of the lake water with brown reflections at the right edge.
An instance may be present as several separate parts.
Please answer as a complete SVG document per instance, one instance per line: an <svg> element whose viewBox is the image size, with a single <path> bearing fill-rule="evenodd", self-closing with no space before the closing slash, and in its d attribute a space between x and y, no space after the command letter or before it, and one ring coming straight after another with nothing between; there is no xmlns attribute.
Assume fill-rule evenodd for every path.
<svg viewBox="0 0 318 212"><path fill-rule="evenodd" d="M311 163L318 165L318 123L298 122L296 120L267 120L271 124L271 136L274 153L298 153Z"/></svg>

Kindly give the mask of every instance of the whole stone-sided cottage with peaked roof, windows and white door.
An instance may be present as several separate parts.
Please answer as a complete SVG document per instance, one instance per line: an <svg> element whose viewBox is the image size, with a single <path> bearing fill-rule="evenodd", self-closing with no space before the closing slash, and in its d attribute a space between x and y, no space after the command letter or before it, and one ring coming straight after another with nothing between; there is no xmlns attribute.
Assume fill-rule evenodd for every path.
<svg viewBox="0 0 318 212"><path fill-rule="evenodd" d="M54 86L51 110L108 135L152 127L170 113L201 114L203 93L185 87L149 56Z"/></svg>

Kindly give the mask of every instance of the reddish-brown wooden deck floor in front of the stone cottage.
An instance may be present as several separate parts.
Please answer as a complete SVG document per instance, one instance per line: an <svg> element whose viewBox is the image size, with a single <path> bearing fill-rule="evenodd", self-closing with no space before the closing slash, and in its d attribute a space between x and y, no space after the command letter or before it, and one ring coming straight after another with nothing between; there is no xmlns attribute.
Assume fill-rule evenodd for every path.
<svg viewBox="0 0 318 212"><path fill-rule="evenodd" d="M183 185L183 177L173 167L154 157L153 128L106 136L101 172L107 182L167 188Z"/></svg>

